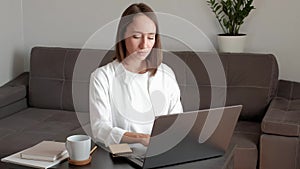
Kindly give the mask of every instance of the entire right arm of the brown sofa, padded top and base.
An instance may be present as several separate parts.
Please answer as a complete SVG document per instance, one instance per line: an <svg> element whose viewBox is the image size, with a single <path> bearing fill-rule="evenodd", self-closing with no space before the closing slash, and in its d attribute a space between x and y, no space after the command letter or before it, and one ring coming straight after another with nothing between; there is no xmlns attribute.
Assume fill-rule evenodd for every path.
<svg viewBox="0 0 300 169"><path fill-rule="evenodd" d="M299 169L300 83L279 81L261 128L260 169Z"/></svg>

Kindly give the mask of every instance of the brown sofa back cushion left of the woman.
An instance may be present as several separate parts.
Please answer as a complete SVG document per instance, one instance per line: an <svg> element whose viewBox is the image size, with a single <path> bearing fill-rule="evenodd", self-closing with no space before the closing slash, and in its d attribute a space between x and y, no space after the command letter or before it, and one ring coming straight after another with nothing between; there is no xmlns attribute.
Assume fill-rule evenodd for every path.
<svg viewBox="0 0 300 169"><path fill-rule="evenodd" d="M89 76L99 66L100 57L107 52L107 50L34 47L30 58L29 105L37 108L70 111L76 109L87 112ZM75 66L77 66L76 75L74 75Z"/></svg>

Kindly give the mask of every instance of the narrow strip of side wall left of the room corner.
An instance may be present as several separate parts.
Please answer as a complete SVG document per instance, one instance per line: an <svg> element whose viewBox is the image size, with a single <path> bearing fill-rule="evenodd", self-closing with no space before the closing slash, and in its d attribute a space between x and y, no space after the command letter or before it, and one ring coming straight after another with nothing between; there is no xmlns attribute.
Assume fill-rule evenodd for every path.
<svg viewBox="0 0 300 169"><path fill-rule="evenodd" d="M22 1L0 3L0 86L24 70Z"/></svg>

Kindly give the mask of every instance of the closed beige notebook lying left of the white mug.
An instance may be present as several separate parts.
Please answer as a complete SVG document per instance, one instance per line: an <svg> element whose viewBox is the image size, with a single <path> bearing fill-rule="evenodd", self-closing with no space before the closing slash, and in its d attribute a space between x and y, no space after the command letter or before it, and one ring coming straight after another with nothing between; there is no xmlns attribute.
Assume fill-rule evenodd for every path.
<svg viewBox="0 0 300 169"><path fill-rule="evenodd" d="M67 154L65 143L42 141L20 153L20 157L30 160L55 161Z"/></svg>

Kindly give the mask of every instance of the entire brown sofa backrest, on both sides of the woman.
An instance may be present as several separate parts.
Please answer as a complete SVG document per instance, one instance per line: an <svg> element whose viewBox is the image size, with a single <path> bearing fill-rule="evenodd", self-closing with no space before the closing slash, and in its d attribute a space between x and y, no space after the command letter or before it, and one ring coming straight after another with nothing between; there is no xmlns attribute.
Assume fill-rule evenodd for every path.
<svg viewBox="0 0 300 169"><path fill-rule="evenodd" d="M74 67L79 60L79 54L79 62L83 62L81 66L84 67L84 71L74 78ZM99 56L104 56L103 60L99 60ZM174 56L184 63L186 68L177 61L172 63L170 60L174 60ZM112 61L113 57L114 52L107 50L34 47L30 61L29 105L88 112L90 74L99 65ZM212 77L209 77L206 65L202 62L203 58L211 57L209 53L165 52L164 57L166 64L172 67L176 74L185 111L210 108L211 93L214 91L215 95L226 98L226 105L243 105L241 119L260 121L274 97L278 65L272 54L220 54L218 57L225 73L226 86L211 84ZM192 72L196 85L191 83L192 78L187 69ZM77 95L75 98L79 97L80 100L74 100L74 94ZM199 107L195 108L191 104L195 101L199 102Z"/></svg>

